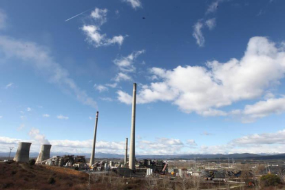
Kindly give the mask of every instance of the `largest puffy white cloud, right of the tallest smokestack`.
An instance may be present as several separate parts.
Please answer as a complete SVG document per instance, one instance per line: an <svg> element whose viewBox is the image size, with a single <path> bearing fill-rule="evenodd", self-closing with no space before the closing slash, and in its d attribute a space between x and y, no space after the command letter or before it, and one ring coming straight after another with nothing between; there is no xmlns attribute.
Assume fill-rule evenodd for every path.
<svg viewBox="0 0 285 190"><path fill-rule="evenodd" d="M257 36L249 40L240 60L209 61L207 67L152 68L150 74L156 75L159 81L139 89L137 102L171 101L182 112L226 116L219 108L262 97L279 84L284 73L285 52L277 49L275 43ZM119 101L131 103L129 94L123 91L117 94Z"/></svg>

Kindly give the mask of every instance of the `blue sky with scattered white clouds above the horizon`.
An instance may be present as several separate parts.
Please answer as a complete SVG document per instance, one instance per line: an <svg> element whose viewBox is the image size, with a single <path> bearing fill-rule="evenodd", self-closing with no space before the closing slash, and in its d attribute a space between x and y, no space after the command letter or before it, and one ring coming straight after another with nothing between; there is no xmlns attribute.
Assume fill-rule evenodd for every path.
<svg viewBox="0 0 285 190"><path fill-rule="evenodd" d="M0 2L0 151L284 153L285 1Z"/></svg>

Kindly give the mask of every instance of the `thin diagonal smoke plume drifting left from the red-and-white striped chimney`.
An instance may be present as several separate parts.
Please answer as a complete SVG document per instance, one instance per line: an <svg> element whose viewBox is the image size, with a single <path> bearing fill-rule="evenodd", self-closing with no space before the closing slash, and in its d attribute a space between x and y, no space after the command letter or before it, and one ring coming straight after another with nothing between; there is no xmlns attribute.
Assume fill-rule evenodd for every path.
<svg viewBox="0 0 285 190"><path fill-rule="evenodd" d="M67 70L54 61L46 47L30 41L19 41L8 36L0 36L0 52L8 58L17 58L29 63L41 73L41 76L47 77L50 83L59 85L65 91L73 92L77 100L84 105L97 107L96 102L68 76Z"/></svg>

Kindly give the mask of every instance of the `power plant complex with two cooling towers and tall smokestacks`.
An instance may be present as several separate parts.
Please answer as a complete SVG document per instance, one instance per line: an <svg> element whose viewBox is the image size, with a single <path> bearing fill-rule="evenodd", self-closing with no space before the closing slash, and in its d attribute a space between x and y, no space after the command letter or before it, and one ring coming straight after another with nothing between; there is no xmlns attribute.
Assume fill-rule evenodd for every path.
<svg viewBox="0 0 285 190"><path fill-rule="evenodd" d="M136 83L133 84L133 97L131 107L131 134L129 140L128 159L128 139L125 141L125 156L123 162L95 161L96 135L98 127L98 115L96 112L94 138L90 161L87 163L85 156L53 156L50 157L52 145L41 145L39 156L36 158L36 165L52 165L58 167L77 167L78 169L89 169L91 171L110 170L125 176L135 176L136 173L166 173L167 163L156 160L136 160ZM15 162L29 162L31 142L19 142L17 154L14 156ZM123 173L123 174L122 174Z"/></svg>

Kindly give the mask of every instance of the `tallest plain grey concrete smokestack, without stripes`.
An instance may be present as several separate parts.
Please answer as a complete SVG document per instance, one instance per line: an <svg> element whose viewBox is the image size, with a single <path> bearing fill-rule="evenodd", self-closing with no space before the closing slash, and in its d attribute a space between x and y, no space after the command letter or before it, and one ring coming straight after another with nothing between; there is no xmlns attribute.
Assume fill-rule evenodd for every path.
<svg viewBox="0 0 285 190"><path fill-rule="evenodd" d="M129 147L129 169L135 168L135 134L136 134L136 83L133 89L133 107L131 112L131 143Z"/></svg>

